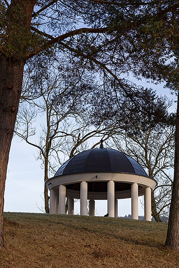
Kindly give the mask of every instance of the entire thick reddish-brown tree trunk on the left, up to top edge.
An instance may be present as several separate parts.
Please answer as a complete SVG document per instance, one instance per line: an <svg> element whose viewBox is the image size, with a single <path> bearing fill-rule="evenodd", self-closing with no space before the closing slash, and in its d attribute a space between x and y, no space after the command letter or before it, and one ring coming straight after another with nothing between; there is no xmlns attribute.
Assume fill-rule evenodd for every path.
<svg viewBox="0 0 179 268"><path fill-rule="evenodd" d="M18 35L23 28L30 31L30 23L35 0L12 0L6 12L7 44L2 47L0 55L0 246L3 238L3 205L5 179L9 157L10 144L13 136L19 99L22 89L23 69L28 40ZM18 18L18 19L17 19ZM13 27L12 27L13 26ZM17 30L15 30L17 29ZM20 46L15 50L14 37L19 38ZM11 50L12 49L12 50ZM17 54L14 54L18 52ZM22 55L24 57L22 57Z"/></svg>

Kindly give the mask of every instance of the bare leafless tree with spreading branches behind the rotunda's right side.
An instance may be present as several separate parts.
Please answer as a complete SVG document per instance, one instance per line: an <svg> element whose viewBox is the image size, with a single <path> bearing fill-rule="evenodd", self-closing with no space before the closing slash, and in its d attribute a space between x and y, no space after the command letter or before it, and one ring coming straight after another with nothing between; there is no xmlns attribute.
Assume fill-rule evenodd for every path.
<svg viewBox="0 0 179 268"><path fill-rule="evenodd" d="M133 157L156 179L158 185L152 191L152 216L156 221L169 216L173 172L175 127L150 128L145 132L123 132L113 136L112 143Z"/></svg>

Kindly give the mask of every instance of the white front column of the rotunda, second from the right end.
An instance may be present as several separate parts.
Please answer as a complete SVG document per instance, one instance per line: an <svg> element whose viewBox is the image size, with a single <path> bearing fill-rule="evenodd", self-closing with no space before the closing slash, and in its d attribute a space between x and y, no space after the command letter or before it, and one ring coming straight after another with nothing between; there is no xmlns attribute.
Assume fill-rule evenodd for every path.
<svg viewBox="0 0 179 268"><path fill-rule="evenodd" d="M138 184L131 185L131 216L132 219L138 219Z"/></svg>

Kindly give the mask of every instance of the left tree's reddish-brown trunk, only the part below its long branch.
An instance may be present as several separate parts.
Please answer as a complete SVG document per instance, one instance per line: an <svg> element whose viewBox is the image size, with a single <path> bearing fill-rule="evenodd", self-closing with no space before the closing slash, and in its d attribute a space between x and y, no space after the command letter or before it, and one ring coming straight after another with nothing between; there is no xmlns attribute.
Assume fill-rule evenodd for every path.
<svg viewBox="0 0 179 268"><path fill-rule="evenodd" d="M22 88L24 62L0 56L0 246L3 246L3 204L10 144Z"/></svg>

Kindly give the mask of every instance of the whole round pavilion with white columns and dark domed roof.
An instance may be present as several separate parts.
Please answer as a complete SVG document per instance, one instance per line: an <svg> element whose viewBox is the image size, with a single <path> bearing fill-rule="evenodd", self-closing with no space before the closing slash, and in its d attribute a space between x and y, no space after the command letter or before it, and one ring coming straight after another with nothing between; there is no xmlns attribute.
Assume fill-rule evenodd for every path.
<svg viewBox="0 0 179 268"><path fill-rule="evenodd" d="M151 221L151 189L157 182L130 156L100 148L83 151L66 161L45 182L50 190L50 213L74 214L74 199L80 199L80 214L94 216L95 200L107 200L109 217L118 216L118 199L131 198L132 219L138 219L138 197L144 195L144 219Z"/></svg>

